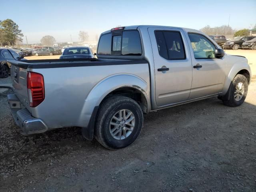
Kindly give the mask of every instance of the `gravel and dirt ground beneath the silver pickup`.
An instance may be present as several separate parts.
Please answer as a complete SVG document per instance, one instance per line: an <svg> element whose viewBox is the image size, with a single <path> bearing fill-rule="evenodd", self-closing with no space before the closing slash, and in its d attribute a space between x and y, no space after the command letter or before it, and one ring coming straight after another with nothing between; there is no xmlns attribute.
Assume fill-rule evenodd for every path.
<svg viewBox="0 0 256 192"><path fill-rule="evenodd" d="M255 192L256 52L226 52L253 69L242 106L210 98L151 112L134 144L116 151L80 128L22 136L0 96L0 192Z"/></svg>

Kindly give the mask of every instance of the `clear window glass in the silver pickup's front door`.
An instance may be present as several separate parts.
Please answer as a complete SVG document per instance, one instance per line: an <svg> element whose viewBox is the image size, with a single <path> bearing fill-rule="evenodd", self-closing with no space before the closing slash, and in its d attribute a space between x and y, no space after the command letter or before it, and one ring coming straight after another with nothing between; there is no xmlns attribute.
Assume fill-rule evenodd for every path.
<svg viewBox="0 0 256 192"><path fill-rule="evenodd" d="M196 59L215 58L215 46L205 36L188 33Z"/></svg>

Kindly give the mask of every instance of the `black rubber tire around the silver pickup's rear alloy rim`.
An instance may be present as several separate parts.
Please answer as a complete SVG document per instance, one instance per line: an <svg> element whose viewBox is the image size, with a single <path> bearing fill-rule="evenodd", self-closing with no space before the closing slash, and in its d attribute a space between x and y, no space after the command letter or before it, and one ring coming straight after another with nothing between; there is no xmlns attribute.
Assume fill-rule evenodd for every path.
<svg viewBox="0 0 256 192"><path fill-rule="evenodd" d="M127 138L118 140L110 133L110 121L120 110L130 110L134 114L135 125ZM115 150L132 144L140 135L143 125L143 114L139 104L131 98L124 96L113 96L106 99L98 110L94 136L102 146ZM121 128L120 128L121 129Z"/></svg>

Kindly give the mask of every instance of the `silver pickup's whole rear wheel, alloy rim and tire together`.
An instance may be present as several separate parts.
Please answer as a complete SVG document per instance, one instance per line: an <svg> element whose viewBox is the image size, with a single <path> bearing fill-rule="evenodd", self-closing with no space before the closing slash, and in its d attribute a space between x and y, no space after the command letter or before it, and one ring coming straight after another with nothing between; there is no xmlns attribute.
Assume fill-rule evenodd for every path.
<svg viewBox="0 0 256 192"><path fill-rule="evenodd" d="M113 96L99 108L95 138L108 149L126 147L138 138L143 125L139 104L131 98Z"/></svg>

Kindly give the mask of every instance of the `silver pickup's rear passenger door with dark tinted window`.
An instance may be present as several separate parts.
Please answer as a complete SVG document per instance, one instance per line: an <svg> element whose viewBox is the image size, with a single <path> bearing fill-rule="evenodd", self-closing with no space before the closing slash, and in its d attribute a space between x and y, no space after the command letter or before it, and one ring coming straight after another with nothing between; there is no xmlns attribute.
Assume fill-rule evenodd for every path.
<svg viewBox="0 0 256 192"><path fill-rule="evenodd" d="M192 84L192 64L180 29L148 28L154 56L157 106L188 99Z"/></svg>

